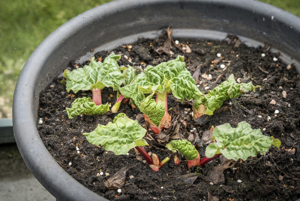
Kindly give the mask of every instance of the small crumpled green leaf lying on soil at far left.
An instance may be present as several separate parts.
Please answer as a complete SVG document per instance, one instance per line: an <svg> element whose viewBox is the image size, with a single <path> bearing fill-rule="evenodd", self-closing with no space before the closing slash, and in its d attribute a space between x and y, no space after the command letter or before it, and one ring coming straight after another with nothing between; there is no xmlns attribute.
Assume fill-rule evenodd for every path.
<svg viewBox="0 0 300 201"><path fill-rule="evenodd" d="M80 114L101 115L110 110L108 103L106 105L96 105L91 98L78 98L72 104L71 108L66 108L69 119L73 119Z"/></svg>

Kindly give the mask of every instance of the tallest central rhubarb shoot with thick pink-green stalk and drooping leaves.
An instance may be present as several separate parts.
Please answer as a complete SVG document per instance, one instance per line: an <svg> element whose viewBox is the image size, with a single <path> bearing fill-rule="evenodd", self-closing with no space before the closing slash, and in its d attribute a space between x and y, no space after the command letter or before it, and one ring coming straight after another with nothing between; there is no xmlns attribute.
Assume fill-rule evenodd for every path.
<svg viewBox="0 0 300 201"><path fill-rule="evenodd" d="M170 122L171 120L167 103L169 94L172 93L175 98L183 102L184 98L188 100L192 98L199 99L202 93L197 88L190 72L185 68L183 56L179 55L175 60L163 62L155 67L147 66L144 72L145 74L139 82L128 84L119 90L125 98L131 98L140 111L146 111L146 114L144 113L145 120L152 125L150 126L152 131L155 134L159 134L161 129L163 129L161 126L164 125L164 122ZM153 101L150 100L153 93L156 95L155 103L157 105L155 107ZM145 94L151 94L151 98L146 99ZM143 101L144 103L142 103ZM155 111L146 110L145 105L151 105L151 107L148 107L149 109L159 108L159 122L152 122L151 119L156 117L151 115L156 115L156 113ZM162 108L165 111L163 117L161 117Z"/></svg>

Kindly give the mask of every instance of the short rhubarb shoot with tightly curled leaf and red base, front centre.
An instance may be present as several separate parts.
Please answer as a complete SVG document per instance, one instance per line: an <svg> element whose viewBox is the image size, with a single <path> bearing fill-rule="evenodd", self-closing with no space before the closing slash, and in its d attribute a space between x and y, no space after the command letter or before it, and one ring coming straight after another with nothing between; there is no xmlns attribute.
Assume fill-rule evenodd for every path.
<svg viewBox="0 0 300 201"><path fill-rule="evenodd" d="M199 165L200 162L200 155L197 151L197 149L190 143L188 140L172 140L169 144L166 145L166 147L171 150L173 153L176 153L176 151L179 151L182 155L187 158L187 168L190 168L192 166ZM178 158L174 157L175 164L180 164L178 162Z"/></svg>

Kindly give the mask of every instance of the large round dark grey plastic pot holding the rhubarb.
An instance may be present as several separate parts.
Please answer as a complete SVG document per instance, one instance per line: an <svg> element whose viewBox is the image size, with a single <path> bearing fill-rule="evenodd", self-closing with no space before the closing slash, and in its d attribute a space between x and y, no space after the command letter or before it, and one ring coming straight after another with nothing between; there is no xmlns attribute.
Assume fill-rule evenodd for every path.
<svg viewBox="0 0 300 201"><path fill-rule="evenodd" d="M138 37L155 38L169 25L174 38L222 40L230 33L248 45L269 43L284 61L299 69L300 19L259 1L119 0L80 14L32 53L13 99L13 130L20 153L38 181L58 200L106 199L68 175L44 146L37 131L41 90L69 61L82 61L94 54L91 50L110 50Z"/></svg>

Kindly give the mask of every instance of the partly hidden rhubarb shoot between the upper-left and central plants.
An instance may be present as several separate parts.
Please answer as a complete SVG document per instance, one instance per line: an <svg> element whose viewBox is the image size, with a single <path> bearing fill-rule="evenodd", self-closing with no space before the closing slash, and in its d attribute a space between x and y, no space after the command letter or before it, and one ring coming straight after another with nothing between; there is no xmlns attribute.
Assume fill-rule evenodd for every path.
<svg viewBox="0 0 300 201"><path fill-rule="evenodd" d="M122 66L121 71L123 71L122 74L126 76L124 81L124 86L127 86L129 84L139 83L140 81L143 80L145 76L145 73L143 72L137 73L137 70L134 67L131 67L129 65L127 67ZM144 95L141 92L139 92L138 88L136 88L136 91L137 91L137 96L140 96L139 99L143 99ZM124 96L122 94L118 93L118 95L119 96L117 98L117 101L111 109L113 113L117 113L119 111L122 102L125 103L128 101L127 99L123 101ZM133 108L136 107L134 103L132 103L132 106Z"/></svg>

